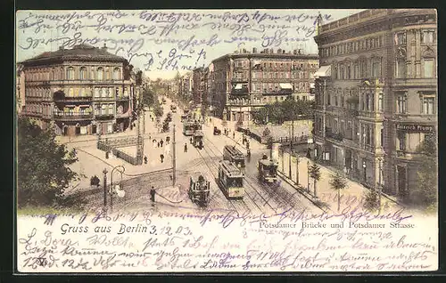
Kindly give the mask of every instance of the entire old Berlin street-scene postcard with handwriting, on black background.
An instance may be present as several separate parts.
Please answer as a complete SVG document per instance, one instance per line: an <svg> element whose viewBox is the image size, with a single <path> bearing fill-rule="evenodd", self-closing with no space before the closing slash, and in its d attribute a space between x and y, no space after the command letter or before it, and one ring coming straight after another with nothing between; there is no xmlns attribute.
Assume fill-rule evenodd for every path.
<svg viewBox="0 0 446 283"><path fill-rule="evenodd" d="M438 269L436 10L15 24L17 272Z"/></svg>

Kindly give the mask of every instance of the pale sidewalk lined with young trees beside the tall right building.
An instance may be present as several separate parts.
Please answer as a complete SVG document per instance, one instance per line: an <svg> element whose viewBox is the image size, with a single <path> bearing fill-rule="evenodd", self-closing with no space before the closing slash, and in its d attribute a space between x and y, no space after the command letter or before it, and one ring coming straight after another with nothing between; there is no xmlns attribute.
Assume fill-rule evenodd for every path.
<svg viewBox="0 0 446 283"><path fill-rule="evenodd" d="M314 198L314 181L309 178L308 174L308 165L307 162L310 161L310 166L314 164L313 161L309 160L305 157L299 158L299 184L300 189L296 183L296 162L295 158L292 158L292 176L289 176L289 154L285 152L284 154L284 167L285 172L283 172L282 168L282 158L279 158L279 176L284 179L285 182L288 182L293 185L296 190L299 190L302 195L306 198L310 198L310 200L315 203L317 206L325 206L332 212L337 212L338 206L338 197L337 191L333 190L329 184L331 180L331 175L335 174L335 171L326 168L326 166L320 166L321 178L317 183L317 192L316 195L318 198ZM310 180L309 180L310 179ZM310 190L309 190L310 189ZM340 201L340 209L342 212L343 209L347 207L355 208L355 207L363 207L363 198L365 198L368 193L368 189L359 184L358 182L353 182L347 179L347 187L344 190L341 190L341 201ZM382 196L381 198L382 210L381 213L388 213L390 211L395 211L397 209L402 208L398 203L396 203L391 198L386 198L386 196Z"/></svg>

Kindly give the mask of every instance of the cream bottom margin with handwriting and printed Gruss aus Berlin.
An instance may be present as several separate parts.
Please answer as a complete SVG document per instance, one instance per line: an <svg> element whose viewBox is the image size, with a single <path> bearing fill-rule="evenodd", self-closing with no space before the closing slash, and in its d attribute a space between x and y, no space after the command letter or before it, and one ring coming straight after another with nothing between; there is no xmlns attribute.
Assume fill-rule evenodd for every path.
<svg viewBox="0 0 446 283"><path fill-rule="evenodd" d="M426 220L416 222L403 212L363 215L366 218L349 217L351 212L332 217L288 213L255 217L217 211L47 215L46 219L53 217L50 225L37 225L37 215L21 216L19 270L436 269L437 239L419 233Z"/></svg>

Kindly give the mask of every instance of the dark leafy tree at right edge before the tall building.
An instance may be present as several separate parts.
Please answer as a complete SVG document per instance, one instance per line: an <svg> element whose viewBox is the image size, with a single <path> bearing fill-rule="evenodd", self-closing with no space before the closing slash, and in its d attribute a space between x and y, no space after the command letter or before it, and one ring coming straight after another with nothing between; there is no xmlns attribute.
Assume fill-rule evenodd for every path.
<svg viewBox="0 0 446 283"><path fill-rule="evenodd" d="M412 190L409 201L416 206L434 209L437 206L438 163L437 142L433 134L426 134L425 140L417 148L417 186Z"/></svg>

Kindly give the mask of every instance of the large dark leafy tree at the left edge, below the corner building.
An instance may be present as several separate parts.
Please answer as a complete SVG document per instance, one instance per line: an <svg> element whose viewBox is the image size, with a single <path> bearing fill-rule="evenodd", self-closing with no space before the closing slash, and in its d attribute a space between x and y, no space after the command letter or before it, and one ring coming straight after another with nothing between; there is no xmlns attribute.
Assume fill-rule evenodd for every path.
<svg viewBox="0 0 446 283"><path fill-rule="evenodd" d="M19 207L82 204L64 196L70 182L79 180L69 167L78 161L75 150L55 142L52 128L42 130L27 117L19 117L17 130Z"/></svg>

